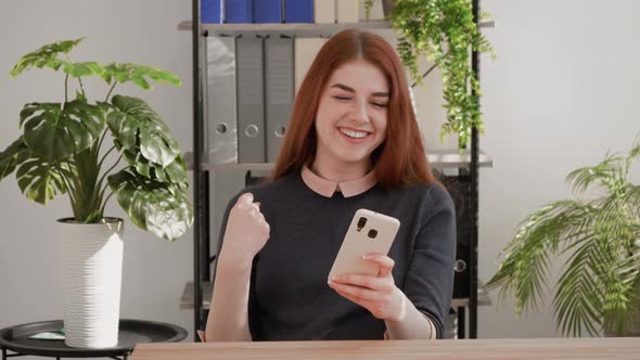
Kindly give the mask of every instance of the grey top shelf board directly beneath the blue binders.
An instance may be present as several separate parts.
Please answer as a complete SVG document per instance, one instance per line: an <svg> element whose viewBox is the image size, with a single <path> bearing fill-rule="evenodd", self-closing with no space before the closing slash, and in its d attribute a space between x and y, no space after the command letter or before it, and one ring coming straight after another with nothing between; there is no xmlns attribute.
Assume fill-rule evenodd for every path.
<svg viewBox="0 0 640 360"><path fill-rule="evenodd" d="M495 27L494 21L482 22L479 27ZM328 37L348 28L360 29L392 29L388 21L374 20L344 24L200 24L202 33L209 36L239 36L243 34L285 35L296 37ZM183 21L178 24L179 30L191 30L192 22Z"/></svg>

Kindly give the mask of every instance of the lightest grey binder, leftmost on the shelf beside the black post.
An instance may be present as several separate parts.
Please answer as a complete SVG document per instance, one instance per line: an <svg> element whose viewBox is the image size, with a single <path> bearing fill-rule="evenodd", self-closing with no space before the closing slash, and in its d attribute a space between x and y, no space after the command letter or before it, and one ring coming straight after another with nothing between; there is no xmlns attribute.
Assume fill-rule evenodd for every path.
<svg viewBox="0 0 640 360"><path fill-rule="evenodd" d="M206 99L208 163L238 163L235 39L208 37L205 54L207 86L203 89L203 98Z"/></svg>

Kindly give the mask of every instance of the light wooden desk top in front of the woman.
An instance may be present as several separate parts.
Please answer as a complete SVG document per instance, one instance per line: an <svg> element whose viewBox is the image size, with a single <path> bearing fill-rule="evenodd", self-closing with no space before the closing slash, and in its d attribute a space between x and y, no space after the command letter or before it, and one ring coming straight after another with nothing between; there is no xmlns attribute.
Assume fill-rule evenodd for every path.
<svg viewBox="0 0 640 360"><path fill-rule="evenodd" d="M640 337L140 344L131 360L640 359Z"/></svg>

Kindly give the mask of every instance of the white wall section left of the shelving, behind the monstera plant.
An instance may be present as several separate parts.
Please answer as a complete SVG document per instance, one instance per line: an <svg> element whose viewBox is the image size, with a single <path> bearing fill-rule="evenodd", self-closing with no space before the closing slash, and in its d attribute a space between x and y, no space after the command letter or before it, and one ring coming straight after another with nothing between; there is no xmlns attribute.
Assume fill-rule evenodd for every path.
<svg viewBox="0 0 640 360"><path fill-rule="evenodd" d="M191 33L177 24L191 17L189 0L3 0L0 2L0 147L18 137L18 113L33 101L61 101L63 77L50 69L11 78L17 60L44 43L87 39L72 52L77 61L132 62L169 70L180 88L132 86L120 92L145 99L163 116L183 150L192 149ZM88 93L104 99L107 88L89 81ZM27 203L12 175L0 182L0 327L60 319L55 258L56 218L71 216L66 197L48 206ZM112 197L108 215L126 215ZM121 317L175 323L191 331L193 312L180 310L192 280L191 232L176 243L155 239L128 219L125 226Z"/></svg>

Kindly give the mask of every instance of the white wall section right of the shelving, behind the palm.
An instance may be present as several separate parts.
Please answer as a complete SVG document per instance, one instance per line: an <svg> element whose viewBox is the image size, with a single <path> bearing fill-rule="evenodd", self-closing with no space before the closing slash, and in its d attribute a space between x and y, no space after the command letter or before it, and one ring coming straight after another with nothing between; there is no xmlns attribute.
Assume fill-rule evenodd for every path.
<svg viewBox="0 0 640 360"><path fill-rule="evenodd" d="M610 149L627 151L639 133L640 2L485 0L483 7L496 20L484 33L498 53L495 62L483 59L481 75L481 147L496 163L479 179L478 273L486 281L519 221L569 196L571 170L594 165ZM640 172L632 179L640 183ZM510 301L482 308L478 336L554 336L550 300L520 321Z"/></svg>

